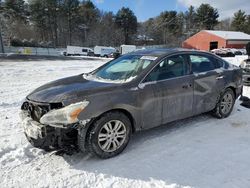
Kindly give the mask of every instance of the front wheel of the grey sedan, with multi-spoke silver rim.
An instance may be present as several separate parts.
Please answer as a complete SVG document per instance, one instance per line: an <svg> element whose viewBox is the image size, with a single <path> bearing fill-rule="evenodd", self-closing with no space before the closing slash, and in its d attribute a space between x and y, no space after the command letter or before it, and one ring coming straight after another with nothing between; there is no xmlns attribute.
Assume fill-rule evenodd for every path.
<svg viewBox="0 0 250 188"><path fill-rule="evenodd" d="M121 112L109 112L90 125L86 149L99 158L111 158L126 148L130 136L129 118Z"/></svg>

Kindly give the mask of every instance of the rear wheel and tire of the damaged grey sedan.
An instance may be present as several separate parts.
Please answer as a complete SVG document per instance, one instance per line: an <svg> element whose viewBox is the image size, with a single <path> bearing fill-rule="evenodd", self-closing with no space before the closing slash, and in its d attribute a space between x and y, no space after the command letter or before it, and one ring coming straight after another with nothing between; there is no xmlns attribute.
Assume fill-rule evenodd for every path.
<svg viewBox="0 0 250 188"><path fill-rule="evenodd" d="M228 117L234 107L235 103L235 94L232 89L227 88L219 98L219 101L216 104L216 107L212 111L212 115L222 119Z"/></svg>

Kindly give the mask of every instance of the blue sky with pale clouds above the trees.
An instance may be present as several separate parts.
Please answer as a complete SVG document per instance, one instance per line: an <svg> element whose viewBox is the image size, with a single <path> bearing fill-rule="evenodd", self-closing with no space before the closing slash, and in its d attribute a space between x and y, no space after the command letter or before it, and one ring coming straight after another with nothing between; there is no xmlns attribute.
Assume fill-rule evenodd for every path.
<svg viewBox="0 0 250 188"><path fill-rule="evenodd" d="M250 14L250 0L94 0L94 3L99 9L114 13L123 6L129 7L138 21L155 17L164 10L186 11L190 5L198 7L202 3L209 3L217 8L220 19L232 17L239 9Z"/></svg>

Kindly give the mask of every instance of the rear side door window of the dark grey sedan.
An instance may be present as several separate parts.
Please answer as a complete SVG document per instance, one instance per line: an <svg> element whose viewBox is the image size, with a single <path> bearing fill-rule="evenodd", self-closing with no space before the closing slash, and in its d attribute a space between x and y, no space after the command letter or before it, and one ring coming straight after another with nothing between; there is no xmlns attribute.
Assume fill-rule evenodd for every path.
<svg viewBox="0 0 250 188"><path fill-rule="evenodd" d="M215 60L201 55L190 55L193 73L207 72L219 68Z"/></svg>

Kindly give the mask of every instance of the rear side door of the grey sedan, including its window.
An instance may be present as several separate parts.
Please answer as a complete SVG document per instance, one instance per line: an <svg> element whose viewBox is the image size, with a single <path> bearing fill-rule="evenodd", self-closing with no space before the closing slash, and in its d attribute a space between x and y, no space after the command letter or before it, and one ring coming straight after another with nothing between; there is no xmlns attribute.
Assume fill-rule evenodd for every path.
<svg viewBox="0 0 250 188"><path fill-rule="evenodd" d="M193 113L200 114L214 109L225 85L222 64L203 53L189 54L194 75Z"/></svg>

